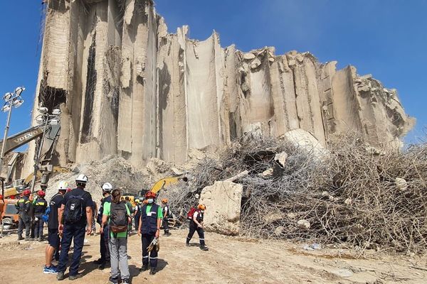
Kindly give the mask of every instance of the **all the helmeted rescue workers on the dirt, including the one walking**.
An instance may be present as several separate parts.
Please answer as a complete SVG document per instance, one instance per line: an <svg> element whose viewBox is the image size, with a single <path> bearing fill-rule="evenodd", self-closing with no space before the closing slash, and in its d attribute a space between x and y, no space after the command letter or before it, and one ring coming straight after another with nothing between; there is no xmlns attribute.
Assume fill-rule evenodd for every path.
<svg viewBox="0 0 427 284"><path fill-rule="evenodd" d="M73 258L70 263L68 279L82 277L78 273L82 256L85 234L95 233L95 219L100 224L100 258L95 261L99 269L110 266L110 283L130 283L130 272L127 263L127 238L132 231L132 219L135 230L142 242L142 267L139 271L149 271L154 275L157 271L157 253L159 251L160 229L164 228L164 236L170 236L168 219L171 216L168 200L163 199L162 205L156 204L157 195L147 192L145 199L135 200L136 206L122 197L122 191L113 189L109 182L102 185L102 200L98 209L90 193L85 190L88 184L86 175L78 175L76 187L71 189L68 182L61 181L58 193L50 202L45 199L45 192L37 192L31 198L31 191L23 191L16 202L19 210L18 240L43 241L43 226L47 223L48 245L46 246L46 263L43 273L56 273L58 280L65 279L68 264L68 251L73 241ZM29 210L33 204L34 218L31 220ZM204 240L204 211L206 206L199 204L191 207L187 214L189 234L186 246L194 233L199 234L200 249L207 251ZM57 265L53 265L53 262Z"/></svg>

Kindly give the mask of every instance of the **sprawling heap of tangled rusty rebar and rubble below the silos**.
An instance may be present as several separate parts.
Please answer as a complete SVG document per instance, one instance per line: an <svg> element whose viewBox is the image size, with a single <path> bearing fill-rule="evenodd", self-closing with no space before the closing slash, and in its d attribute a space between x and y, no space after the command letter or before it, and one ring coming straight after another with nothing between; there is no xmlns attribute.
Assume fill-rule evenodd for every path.
<svg viewBox="0 0 427 284"><path fill-rule="evenodd" d="M371 148L355 134L347 134L319 158L313 148L307 151L286 138L243 139L219 160L202 160L194 168L193 183L181 191L185 198L174 200L175 206L188 209L194 196L201 195L201 202L211 204L206 216L217 218L207 229L221 233L423 251L427 144L403 153ZM242 172L247 174L239 175ZM241 207L228 214L240 216L238 230L222 215L230 203L238 202L239 188L236 195L230 187L213 194L213 188L221 190L218 181L231 176L238 177L233 182L243 187Z"/></svg>

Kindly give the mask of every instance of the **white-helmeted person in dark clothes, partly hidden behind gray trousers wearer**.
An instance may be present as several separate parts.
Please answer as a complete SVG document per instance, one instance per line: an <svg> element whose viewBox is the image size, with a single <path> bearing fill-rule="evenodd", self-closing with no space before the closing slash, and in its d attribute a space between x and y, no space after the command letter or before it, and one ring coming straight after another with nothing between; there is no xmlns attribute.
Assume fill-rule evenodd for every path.
<svg viewBox="0 0 427 284"><path fill-rule="evenodd" d="M111 192L112 192L112 185L110 182L105 182L102 185L102 200L101 200L101 206L99 209L99 212L97 214L97 220L96 222L98 224L102 224L102 214L104 212L105 204L111 202ZM110 249L108 244L108 239L110 236L110 231L108 231L108 224L104 226L102 231L100 231L100 254L101 257L98 258L96 261L94 261L95 264L97 264L98 269L102 270L105 268L105 266L108 266L110 264Z"/></svg>

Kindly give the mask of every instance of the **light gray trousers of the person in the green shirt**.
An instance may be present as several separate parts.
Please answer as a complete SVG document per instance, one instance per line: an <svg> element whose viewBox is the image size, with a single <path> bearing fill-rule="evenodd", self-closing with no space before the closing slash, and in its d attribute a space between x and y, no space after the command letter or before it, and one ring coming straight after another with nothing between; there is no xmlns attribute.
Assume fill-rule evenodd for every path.
<svg viewBox="0 0 427 284"><path fill-rule="evenodd" d="M111 277L117 279L121 275L122 280L129 279L130 273L129 266L127 264L127 238L114 238L110 236L108 247L110 249Z"/></svg>

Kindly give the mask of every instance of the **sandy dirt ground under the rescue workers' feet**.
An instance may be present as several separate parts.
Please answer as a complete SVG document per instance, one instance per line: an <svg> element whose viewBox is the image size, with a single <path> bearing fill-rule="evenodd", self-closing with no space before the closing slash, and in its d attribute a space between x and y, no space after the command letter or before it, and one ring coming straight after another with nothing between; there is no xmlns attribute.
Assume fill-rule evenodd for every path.
<svg viewBox="0 0 427 284"><path fill-rule="evenodd" d="M303 249L288 241L257 241L206 234L209 251L184 245L186 230L161 237L159 271L139 273L141 243L130 236L128 253L132 283L427 283L427 259L387 256L371 251L356 258L346 249ZM73 283L108 283L110 269L97 269L99 236L87 236L80 272ZM16 234L0 239L0 283L57 283L56 275L43 274L44 248L38 241L16 241ZM67 276L68 273L65 274ZM65 279L63 283L70 282Z"/></svg>

